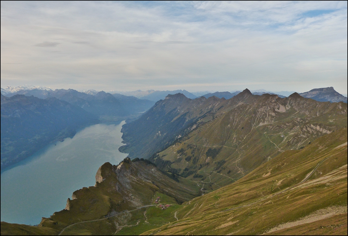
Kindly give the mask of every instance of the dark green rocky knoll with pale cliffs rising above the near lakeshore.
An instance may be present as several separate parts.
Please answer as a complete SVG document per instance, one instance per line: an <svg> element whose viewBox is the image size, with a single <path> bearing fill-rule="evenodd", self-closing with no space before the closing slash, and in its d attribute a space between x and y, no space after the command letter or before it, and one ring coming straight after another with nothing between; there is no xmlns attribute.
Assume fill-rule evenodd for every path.
<svg viewBox="0 0 348 236"><path fill-rule="evenodd" d="M196 182L184 178L175 181L141 160L133 163L125 159L118 166L105 163L99 168L96 180L96 186L75 191L72 199L68 199L66 209L55 212L50 218L42 218L40 227L1 222L1 234L57 234L64 227L81 221L90 222L71 226L63 234L111 234L120 226L132 224L134 215L145 210L136 209L151 204L158 194L178 207L178 202L188 201L199 196L200 192ZM114 214L117 215L110 217L109 222L107 217ZM167 222L161 221L160 225ZM160 225L157 223L152 228Z"/></svg>

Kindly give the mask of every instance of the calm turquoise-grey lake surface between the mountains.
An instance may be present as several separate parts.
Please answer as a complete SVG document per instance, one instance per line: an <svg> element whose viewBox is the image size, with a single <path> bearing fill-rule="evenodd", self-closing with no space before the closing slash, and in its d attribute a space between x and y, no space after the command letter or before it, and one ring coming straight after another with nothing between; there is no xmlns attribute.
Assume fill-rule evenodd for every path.
<svg viewBox="0 0 348 236"><path fill-rule="evenodd" d="M75 190L94 186L105 162L117 165L127 157L118 148L121 123L81 129L73 138L41 149L19 165L1 173L1 221L37 225L65 208ZM55 145L56 144L56 145Z"/></svg>

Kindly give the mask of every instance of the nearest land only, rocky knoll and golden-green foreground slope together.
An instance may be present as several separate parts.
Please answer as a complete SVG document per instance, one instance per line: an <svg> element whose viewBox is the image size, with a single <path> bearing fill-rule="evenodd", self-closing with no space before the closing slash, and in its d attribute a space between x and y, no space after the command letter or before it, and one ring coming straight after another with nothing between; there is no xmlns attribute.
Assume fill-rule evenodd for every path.
<svg viewBox="0 0 348 236"><path fill-rule="evenodd" d="M181 205L173 193L189 199L190 192L199 191L195 184L181 177L173 181L142 160L125 159L118 166L105 163L96 174L95 187L75 191L65 210L43 218L41 227L1 222L1 230L3 234L25 230L54 235L221 235L306 234L311 229L318 234L344 234L346 143L347 128L339 129L303 149L284 151L235 183ZM145 184L148 180L155 181ZM125 189L127 184L132 187ZM177 187L173 192L161 184ZM142 195L137 193L139 187ZM160 204L170 204L168 209L158 209L157 197L163 199Z"/></svg>

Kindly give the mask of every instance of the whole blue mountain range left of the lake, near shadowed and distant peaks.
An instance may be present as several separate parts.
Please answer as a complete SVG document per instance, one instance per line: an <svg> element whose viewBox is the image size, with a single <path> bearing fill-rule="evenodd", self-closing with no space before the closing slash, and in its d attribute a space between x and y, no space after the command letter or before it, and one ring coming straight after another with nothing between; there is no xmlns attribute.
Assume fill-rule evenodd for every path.
<svg viewBox="0 0 348 236"><path fill-rule="evenodd" d="M87 91L88 92L88 91ZM1 170L76 129L139 117L155 102L121 94L30 88L1 94Z"/></svg>

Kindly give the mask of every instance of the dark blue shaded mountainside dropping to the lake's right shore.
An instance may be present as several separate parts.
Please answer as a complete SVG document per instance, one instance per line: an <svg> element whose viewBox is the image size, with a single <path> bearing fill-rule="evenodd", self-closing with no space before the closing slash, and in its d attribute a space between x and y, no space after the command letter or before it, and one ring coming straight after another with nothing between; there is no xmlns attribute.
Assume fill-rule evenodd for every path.
<svg viewBox="0 0 348 236"><path fill-rule="evenodd" d="M198 124L211 120L212 111L219 103L217 97L191 100L181 93L168 95L139 119L122 126L122 139L126 145L119 150L131 158L148 158Z"/></svg>

